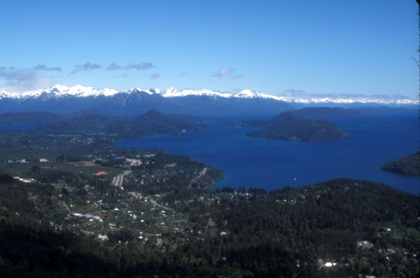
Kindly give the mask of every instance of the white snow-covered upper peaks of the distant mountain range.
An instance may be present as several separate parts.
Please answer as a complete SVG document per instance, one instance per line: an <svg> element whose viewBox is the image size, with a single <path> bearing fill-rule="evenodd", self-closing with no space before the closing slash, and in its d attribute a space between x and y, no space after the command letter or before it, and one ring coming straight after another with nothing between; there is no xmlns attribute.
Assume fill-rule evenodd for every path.
<svg viewBox="0 0 420 278"><path fill-rule="evenodd" d="M287 102L290 104L353 104L353 103L376 103L376 104L417 104L418 102L407 97L389 98L384 96L351 96L351 97L337 97L337 96L293 96L283 95L274 96L255 92L253 90L242 90L236 94L229 94L223 92L217 92L213 90L177 90L173 87L167 90L160 89L141 89L134 88L130 90L113 90L109 88L97 89L93 87L85 87L83 85L75 85L68 87L66 85L55 85L46 90L35 90L23 93L18 92L7 92L6 90L0 90L0 99L36 99L43 96L44 98L59 98L59 97L113 97L118 94L132 95L135 93L146 93L148 95L160 95L165 98L174 97L188 97L188 96L206 96L213 98L225 98L225 99L272 99L281 102Z"/></svg>

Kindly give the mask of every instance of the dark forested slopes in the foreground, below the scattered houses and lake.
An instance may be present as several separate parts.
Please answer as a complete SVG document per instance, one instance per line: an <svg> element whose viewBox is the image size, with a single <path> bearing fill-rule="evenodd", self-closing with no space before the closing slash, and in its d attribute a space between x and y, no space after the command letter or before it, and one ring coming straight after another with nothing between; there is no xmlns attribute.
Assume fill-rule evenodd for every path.
<svg viewBox="0 0 420 278"><path fill-rule="evenodd" d="M268 193L209 190L207 202L174 204L191 226L187 237L162 234L168 237L162 244L125 228L109 232L105 242L53 228L57 190L44 183L1 174L0 190L1 277L412 277L419 271L419 197L368 181L335 179ZM201 232L211 226L215 233Z"/></svg>

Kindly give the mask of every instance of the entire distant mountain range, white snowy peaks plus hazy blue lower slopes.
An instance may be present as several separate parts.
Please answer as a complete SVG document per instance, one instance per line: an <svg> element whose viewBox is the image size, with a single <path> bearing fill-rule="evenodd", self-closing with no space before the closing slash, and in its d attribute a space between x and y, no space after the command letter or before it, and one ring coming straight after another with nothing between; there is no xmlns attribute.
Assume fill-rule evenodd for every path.
<svg viewBox="0 0 420 278"><path fill-rule="evenodd" d="M378 104L412 104L409 99L388 101L376 99ZM290 96L274 96L241 90L235 94L213 90L177 90L168 88L113 90L75 85L55 85L46 90L24 93L0 91L0 113L22 111L46 111L50 113L74 113L76 111L102 110L120 116L134 116L158 109L163 113L184 113L195 116L263 115L279 114L310 105L366 105L368 99L302 99ZM416 103L416 102L415 102ZM414 106L414 105L412 105Z"/></svg>

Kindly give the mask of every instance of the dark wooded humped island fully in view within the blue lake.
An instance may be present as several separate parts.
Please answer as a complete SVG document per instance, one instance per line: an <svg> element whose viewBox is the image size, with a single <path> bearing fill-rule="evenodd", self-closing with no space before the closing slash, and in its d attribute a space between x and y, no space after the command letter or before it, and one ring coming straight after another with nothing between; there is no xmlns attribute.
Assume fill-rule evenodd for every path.
<svg viewBox="0 0 420 278"><path fill-rule="evenodd" d="M294 112L281 113L260 125L264 128L250 132L247 136L287 141L328 141L349 136L335 123L302 118Z"/></svg>

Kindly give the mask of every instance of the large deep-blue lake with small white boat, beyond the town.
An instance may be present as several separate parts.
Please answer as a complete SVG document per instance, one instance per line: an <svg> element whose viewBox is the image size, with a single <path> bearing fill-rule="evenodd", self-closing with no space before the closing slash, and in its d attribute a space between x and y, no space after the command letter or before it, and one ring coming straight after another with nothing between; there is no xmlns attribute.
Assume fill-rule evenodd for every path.
<svg viewBox="0 0 420 278"><path fill-rule="evenodd" d="M416 116L333 121L350 136L336 141L290 142L246 137L246 133L255 128L218 123L199 132L142 137L116 145L159 148L224 169L226 177L216 184L218 187L253 186L272 190L345 177L377 181L409 193L420 193L419 177L380 169L388 161L419 151Z"/></svg>

